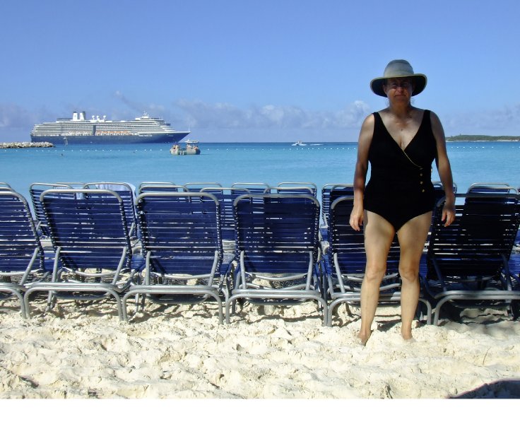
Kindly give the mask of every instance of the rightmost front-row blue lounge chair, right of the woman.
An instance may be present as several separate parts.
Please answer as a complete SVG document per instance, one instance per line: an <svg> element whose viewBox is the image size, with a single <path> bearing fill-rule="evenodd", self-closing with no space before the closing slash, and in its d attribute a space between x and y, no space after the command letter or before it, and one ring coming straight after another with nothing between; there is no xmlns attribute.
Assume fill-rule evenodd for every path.
<svg viewBox="0 0 520 424"><path fill-rule="evenodd" d="M519 195L479 192L456 194L456 199L454 223L444 227L438 212L428 246L425 288L436 302L434 324L447 302L456 308L510 310L512 301L520 300L508 267L519 228ZM437 211L443 203L437 203Z"/></svg>

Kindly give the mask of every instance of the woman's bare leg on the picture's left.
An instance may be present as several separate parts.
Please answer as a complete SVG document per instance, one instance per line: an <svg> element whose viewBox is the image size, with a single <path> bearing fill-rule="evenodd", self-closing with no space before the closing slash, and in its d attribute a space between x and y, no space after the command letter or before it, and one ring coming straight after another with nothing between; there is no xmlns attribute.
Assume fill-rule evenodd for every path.
<svg viewBox="0 0 520 424"><path fill-rule="evenodd" d="M372 334L372 322L379 300L379 285L386 272L386 258L395 232L387 220L369 211L365 211L363 227L367 266L361 285L361 329L358 337L360 343L365 346Z"/></svg>

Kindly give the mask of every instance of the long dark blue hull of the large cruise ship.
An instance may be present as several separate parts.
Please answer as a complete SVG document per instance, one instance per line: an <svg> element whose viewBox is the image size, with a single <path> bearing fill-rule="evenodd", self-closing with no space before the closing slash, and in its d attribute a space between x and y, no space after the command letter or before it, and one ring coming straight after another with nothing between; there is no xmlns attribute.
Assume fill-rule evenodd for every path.
<svg viewBox="0 0 520 424"><path fill-rule="evenodd" d="M153 134L150 136L30 136L32 143L49 142L64 144L136 144L136 143L177 143L184 139L189 131L178 131L175 134Z"/></svg>

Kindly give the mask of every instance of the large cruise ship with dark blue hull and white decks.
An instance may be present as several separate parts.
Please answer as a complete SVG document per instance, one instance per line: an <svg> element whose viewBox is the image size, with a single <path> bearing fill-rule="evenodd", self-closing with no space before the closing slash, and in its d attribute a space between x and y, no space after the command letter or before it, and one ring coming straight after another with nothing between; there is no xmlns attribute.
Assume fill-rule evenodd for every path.
<svg viewBox="0 0 520 424"><path fill-rule="evenodd" d="M175 131L163 119L144 113L132 121L109 121L106 115L86 119L85 112L73 112L72 118L36 124L30 131L32 142L57 144L177 143L189 131Z"/></svg>

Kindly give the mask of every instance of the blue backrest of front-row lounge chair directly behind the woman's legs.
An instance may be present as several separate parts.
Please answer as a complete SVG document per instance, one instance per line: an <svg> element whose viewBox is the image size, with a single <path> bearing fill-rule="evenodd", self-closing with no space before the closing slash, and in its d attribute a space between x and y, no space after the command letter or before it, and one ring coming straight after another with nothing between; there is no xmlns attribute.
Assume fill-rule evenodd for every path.
<svg viewBox="0 0 520 424"><path fill-rule="evenodd" d="M349 224L353 204L354 196L338 197L331 204L329 216L329 252L336 257L341 273L345 275L365 273L367 263L363 232L355 231ZM387 275L398 273L399 255L399 245L394 237L386 261Z"/></svg>

